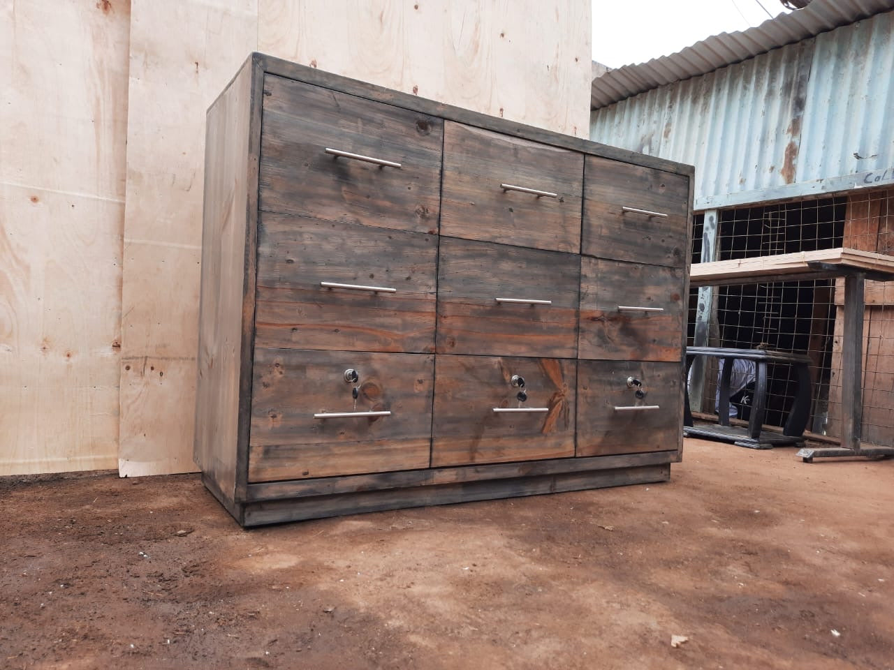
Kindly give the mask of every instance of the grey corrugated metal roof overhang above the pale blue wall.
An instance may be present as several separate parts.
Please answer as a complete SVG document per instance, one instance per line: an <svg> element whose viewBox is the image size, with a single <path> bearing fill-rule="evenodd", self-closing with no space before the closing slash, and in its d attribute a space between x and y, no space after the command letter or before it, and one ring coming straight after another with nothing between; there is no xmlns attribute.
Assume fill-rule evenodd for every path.
<svg viewBox="0 0 894 670"><path fill-rule="evenodd" d="M593 80L590 108L706 74L892 9L894 0L814 0L804 9L780 14L755 28L723 32L676 54L608 71Z"/></svg>

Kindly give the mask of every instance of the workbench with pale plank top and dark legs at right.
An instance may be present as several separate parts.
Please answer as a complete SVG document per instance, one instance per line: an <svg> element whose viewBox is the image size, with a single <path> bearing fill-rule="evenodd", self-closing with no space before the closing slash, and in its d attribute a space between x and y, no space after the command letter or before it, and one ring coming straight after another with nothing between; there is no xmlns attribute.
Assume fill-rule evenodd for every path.
<svg viewBox="0 0 894 670"><path fill-rule="evenodd" d="M803 448L797 455L806 463L821 457L894 456L894 447L864 446L861 443L865 281L894 280L894 256L839 247L694 264L689 277L690 285L694 287L844 277L841 446Z"/></svg>

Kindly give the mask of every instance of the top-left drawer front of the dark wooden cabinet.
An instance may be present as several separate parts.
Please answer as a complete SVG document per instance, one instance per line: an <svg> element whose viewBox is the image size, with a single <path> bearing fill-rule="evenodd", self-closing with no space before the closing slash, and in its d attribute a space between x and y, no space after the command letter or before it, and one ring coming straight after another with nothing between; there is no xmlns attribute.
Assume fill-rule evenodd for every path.
<svg viewBox="0 0 894 670"><path fill-rule="evenodd" d="M265 77L264 96L261 209L437 232L441 119L273 75Z"/></svg>

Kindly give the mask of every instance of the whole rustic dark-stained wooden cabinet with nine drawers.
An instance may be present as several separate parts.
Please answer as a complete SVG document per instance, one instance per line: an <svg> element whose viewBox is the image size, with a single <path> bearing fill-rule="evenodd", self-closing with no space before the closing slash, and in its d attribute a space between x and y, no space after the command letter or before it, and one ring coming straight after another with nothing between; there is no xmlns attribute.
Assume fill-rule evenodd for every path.
<svg viewBox="0 0 894 670"><path fill-rule="evenodd" d="M691 178L252 54L207 115L203 482L257 525L668 479Z"/></svg>

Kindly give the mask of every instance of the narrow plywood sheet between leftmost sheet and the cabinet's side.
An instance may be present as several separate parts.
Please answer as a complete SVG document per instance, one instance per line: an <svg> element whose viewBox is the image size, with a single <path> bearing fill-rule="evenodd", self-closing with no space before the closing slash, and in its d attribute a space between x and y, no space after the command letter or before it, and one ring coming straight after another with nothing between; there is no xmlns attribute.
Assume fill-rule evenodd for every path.
<svg viewBox="0 0 894 670"><path fill-rule="evenodd" d="M257 48L254 0L133 0L131 16L122 476L196 470L205 113Z"/></svg>

